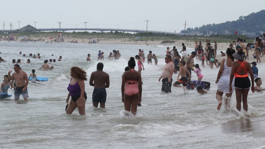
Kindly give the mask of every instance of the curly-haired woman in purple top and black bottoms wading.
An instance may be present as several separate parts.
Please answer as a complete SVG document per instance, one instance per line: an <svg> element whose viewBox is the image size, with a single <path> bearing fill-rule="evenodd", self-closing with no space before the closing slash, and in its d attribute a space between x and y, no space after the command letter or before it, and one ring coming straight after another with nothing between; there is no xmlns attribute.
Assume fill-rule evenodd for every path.
<svg viewBox="0 0 265 149"><path fill-rule="evenodd" d="M71 67L71 81L67 87L69 93L66 99L66 103L69 102L69 97L71 95L71 100L67 104L66 113L72 114L73 111L78 108L79 114L86 115L85 104L87 100L87 94L85 92L85 82L87 81L87 72L79 67Z"/></svg>

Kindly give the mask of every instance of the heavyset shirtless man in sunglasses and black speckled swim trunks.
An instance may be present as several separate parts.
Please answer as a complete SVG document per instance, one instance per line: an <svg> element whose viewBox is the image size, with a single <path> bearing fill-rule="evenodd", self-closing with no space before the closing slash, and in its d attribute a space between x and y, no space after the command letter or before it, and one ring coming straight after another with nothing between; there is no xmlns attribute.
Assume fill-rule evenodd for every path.
<svg viewBox="0 0 265 149"><path fill-rule="evenodd" d="M172 75L174 71L174 64L171 62L171 56L166 55L165 62L167 63L162 71L162 75L159 77L158 81L160 82L162 78L162 89L161 91L165 91L166 93L171 92L172 86Z"/></svg>

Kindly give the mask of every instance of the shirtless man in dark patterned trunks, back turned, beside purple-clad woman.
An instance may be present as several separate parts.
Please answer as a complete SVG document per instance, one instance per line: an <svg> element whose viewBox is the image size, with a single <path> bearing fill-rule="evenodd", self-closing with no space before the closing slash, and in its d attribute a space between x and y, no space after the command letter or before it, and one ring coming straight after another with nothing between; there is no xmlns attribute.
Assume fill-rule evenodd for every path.
<svg viewBox="0 0 265 149"><path fill-rule="evenodd" d="M109 75L108 73L103 72L103 63L99 62L97 65L97 71L91 73L89 85L94 87L92 95L93 106L98 107L98 103L100 102L100 107L105 108L107 97L105 88L109 87Z"/></svg>

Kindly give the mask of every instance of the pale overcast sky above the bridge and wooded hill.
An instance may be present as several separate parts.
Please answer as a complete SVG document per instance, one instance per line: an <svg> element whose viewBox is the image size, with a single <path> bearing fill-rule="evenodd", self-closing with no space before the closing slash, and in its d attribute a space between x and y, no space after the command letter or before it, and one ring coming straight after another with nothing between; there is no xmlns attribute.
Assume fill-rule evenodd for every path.
<svg viewBox="0 0 265 149"><path fill-rule="evenodd" d="M12 23L12 30L28 24L37 29L60 24L61 28L180 32L185 21L186 29L236 21L263 7L247 0L5 0L1 1L0 30L10 30Z"/></svg>

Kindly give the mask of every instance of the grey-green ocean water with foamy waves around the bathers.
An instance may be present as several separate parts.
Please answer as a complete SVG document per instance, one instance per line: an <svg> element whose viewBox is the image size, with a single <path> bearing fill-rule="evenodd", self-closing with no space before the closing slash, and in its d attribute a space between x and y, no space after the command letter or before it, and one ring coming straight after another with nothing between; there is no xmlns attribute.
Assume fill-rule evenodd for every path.
<svg viewBox="0 0 265 149"><path fill-rule="evenodd" d="M37 76L48 77L49 81L28 84L29 100L14 101L12 97L0 102L0 148L262 148L264 136L255 136L251 132L222 132L215 127L230 121L241 121L264 117L264 93L248 94L248 112L238 112L235 108L235 93L231 107L217 110L216 84L218 68L201 67L203 79L211 83L208 94L199 95L195 90L183 91L172 87L172 93L161 92L162 82L158 78L165 65L166 47L173 45L109 45L81 43L20 43L0 42L0 57L7 62L0 63L0 77L13 70L12 59L22 59L30 64L20 64L29 75L32 69ZM177 47L180 51L180 47ZM119 50L122 57L118 61L108 61L112 50ZM129 57L143 49L147 61L148 51L158 57L158 66L144 63L142 71L142 106L137 116L124 116L121 101L121 75L127 66ZM98 50L103 51L105 60L97 61ZM187 48L192 52L193 47ZM23 57L19 54L26 54ZM29 53L40 53L40 59L29 57ZM90 62L86 61L91 54ZM220 51L217 51L220 53ZM51 56L51 55L54 56ZM57 59L61 62L49 63L52 71L38 70L45 59ZM201 64L197 59L195 63ZM92 106L93 87L85 82L86 116L80 116L76 109L72 115L65 113L67 87L70 82L70 67L82 67L88 74L96 71L98 62L104 64L103 71L110 75L110 87L107 88L106 108ZM153 61L154 63L154 61ZM265 70L264 63L258 63L259 72ZM137 68L136 68L137 69ZM11 72L11 74L14 71ZM262 74L262 73L261 73ZM178 74L173 75L173 82ZM265 78L260 75L264 80ZM192 80L196 80L192 72ZM264 86L263 86L264 87ZM240 123L236 123L242 127ZM211 128L206 134L200 133ZM252 129L256 129L252 127ZM240 130L240 129L239 129ZM264 130L263 130L264 131Z"/></svg>

